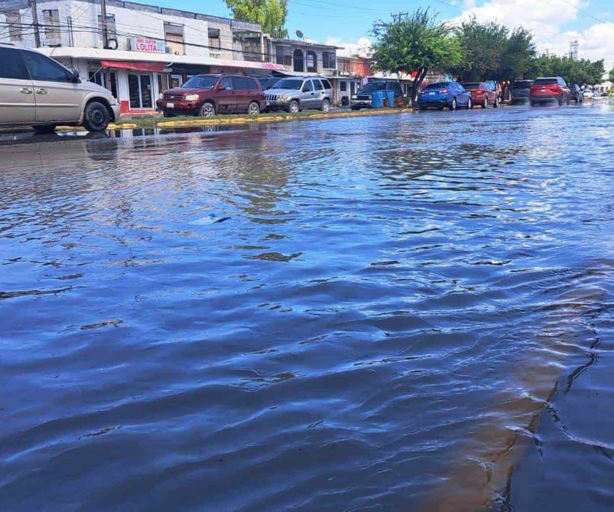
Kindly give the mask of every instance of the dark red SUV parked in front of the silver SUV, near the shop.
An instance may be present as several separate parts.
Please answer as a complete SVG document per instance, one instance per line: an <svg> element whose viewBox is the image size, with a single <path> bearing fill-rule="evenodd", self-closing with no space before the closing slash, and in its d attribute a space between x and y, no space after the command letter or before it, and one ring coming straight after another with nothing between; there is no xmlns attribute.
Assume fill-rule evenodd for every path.
<svg viewBox="0 0 614 512"><path fill-rule="evenodd" d="M164 91L156 102L164 117L174 115L260 114L265 95L260 82L241 74L196 75L181 87Z"/></svg>

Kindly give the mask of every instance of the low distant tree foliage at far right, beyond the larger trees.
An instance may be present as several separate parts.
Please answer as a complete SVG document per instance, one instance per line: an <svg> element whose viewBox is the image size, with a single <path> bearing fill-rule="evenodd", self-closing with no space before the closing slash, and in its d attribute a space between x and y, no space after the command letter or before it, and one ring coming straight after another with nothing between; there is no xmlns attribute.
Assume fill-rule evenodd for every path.
<svg viewBox="0 0 614 512"><path fill-rule="evenodd" d="M596 85L605 73L604 60L573 60L557 55L542 55L535 59L530 78L538 76L560 76L567 83Z"/></svg>

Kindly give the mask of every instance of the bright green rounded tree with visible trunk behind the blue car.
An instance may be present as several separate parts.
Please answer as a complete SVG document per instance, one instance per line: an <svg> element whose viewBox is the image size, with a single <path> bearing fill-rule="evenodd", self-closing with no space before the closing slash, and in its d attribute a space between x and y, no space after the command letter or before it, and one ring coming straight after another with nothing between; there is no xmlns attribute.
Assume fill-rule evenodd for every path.
<svg viewBox="0 0 614 512"><path fill-rule="evenodd" d="M449 72L461 62L461 44L453 28L429 9L417 9L404 20L376 21L371 28L373 69L400 73L416 71L408 101L414 103L427 71Z"/></svg>

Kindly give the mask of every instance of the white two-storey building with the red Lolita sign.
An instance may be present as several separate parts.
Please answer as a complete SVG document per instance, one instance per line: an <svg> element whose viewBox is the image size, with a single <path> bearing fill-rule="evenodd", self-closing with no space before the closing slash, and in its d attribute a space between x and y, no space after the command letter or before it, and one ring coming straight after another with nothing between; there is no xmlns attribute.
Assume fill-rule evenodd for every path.
<svg viewBox="0 0 614 512"><path fill-rule="evenodd" d="M284 70L255 23L117 0L106 10L104 48L99 0L38 0L41 52L105 85L123 113L152 111L161 91L194 74ZM29 0L0 0L1 42L34 48L35 31Z"/></svg>

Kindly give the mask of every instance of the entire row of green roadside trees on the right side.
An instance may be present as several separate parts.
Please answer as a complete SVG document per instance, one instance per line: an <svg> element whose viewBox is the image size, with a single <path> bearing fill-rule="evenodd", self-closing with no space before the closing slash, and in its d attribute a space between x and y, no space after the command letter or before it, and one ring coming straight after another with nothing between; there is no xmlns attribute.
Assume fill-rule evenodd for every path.
<svg viewBox="0 0 614 512"><path fill-rule="evenodd" d="M417 73L408 98L411 102L429 69L462 82L495 80L504 93L516 79L561 76L567 83L594 85L605 72L604 60L538 56L533 34L524 27L510 31L475 17L451 26L429 9L417 9L397 21L376 21L371 36L375 39L371 55L374 69L397 76L400 72Z"/></svg>

